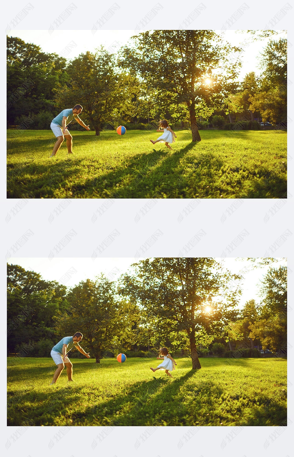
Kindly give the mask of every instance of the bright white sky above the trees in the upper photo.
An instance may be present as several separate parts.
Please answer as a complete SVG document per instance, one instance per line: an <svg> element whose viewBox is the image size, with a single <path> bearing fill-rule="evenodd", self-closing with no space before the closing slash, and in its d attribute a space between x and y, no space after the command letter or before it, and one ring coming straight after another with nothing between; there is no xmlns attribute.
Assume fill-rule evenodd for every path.
<svg viewBox="0 0 294 457"><path fill-rule="evenodd" d="M216 32L221 33L220 30ZM129 38L135 34L134 30L54 30L50 35L48 30L15 30L11 32L14 37L19 37L26 43L35 43L42 48L45 53L57 53L72 59L80 53L86 51L94 52L96 48L103 45L110 52L116 53L118 49L127 44ZM232 45L239 46L243 43L244 52L242 53L242 69L239 80L250 71L260 73L258 63L260 52L267 45L270 38L261 41L252 41L247 33L240 33L235 30L224 31L224 38ZM281 32L274 35L272 39L286 38L286 33Z"/></svg>

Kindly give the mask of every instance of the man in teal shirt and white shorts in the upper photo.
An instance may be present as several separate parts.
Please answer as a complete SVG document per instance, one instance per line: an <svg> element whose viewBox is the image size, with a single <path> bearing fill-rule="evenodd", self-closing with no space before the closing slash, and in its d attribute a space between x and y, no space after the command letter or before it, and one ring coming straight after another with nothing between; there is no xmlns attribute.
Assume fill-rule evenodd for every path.
<svg viewBox="0 0 294 457"><path fill-rule="evenodd" d="M86 130L90 130L89 126L84 124L78 115L82 112L83 106L75 105L73 108L63 110L58 116L54 117L51 122L51 130L57 138L56 143L50 157L56 155L58 149L62 145L64 138L67 140L67 154L72 154L72 135L67 130L67 125L75 119Z"/></svg>

